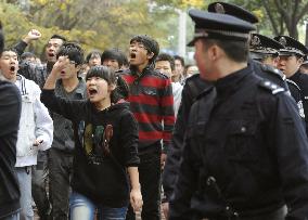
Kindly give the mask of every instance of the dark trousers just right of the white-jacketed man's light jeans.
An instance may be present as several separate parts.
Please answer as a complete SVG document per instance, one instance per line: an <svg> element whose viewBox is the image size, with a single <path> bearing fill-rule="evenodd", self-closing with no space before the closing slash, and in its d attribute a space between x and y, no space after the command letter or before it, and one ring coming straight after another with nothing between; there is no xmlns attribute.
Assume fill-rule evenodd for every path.
<svg viewBox="0 0 308 220"><path fill-rule="evenodd" d="M46 154L43 152L42 154ZM51 211L51 204L48 198L47 184L48 184L48 160L47 155L39 155L40 157L37 165L33 167L33 197L36 203L38 215L41 220L49 219ZM42 158L43 157L43 158Z"/></svg>

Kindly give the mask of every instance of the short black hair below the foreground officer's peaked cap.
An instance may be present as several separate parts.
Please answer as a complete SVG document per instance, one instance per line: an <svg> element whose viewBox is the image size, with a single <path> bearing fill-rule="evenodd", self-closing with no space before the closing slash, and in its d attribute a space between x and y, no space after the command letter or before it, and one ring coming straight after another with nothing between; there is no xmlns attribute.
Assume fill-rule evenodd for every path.
<svg viewBox="0 0 308 220"><path fill-rule="evenodd" d="M249 47L247 40L217 40L217 39L207 39L203 38L203 41L206 42L206 48L209 48L214 44L217 44L219 48L221 48L227 56L234 61L234 62L247 62L248 60L248 53L249 53Z"/></svg>

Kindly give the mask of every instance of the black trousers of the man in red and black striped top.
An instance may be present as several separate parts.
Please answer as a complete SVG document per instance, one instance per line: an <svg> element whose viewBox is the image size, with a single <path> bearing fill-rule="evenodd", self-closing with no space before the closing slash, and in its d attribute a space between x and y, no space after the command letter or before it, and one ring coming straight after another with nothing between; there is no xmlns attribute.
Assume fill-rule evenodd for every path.
<svg viewBox="0 0 308 220"><path fill-rule="evenodd" d="M161 219L161 152L139 155L139 180L143 199L141 218L143 220ZM136 216L129 207L127 220L134 220Z"/></svg>

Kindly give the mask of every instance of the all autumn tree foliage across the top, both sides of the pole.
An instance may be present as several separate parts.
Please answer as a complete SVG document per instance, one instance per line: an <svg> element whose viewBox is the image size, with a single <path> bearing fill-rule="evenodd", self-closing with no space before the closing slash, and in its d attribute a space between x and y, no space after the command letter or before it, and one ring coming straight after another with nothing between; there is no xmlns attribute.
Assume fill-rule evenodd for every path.
<svg viewBox="0 0 308 220"><path fill-rule="evenodd" d="M28 5L18 7L22 1ZM226 1L255 13L260 20L259 31L267 35L290 34L297 38L297 24L308 16L308 0ZM210 2L214 0L0 0L0 16L7 44L15 43L31 28L42 33L42 38L29 47L36 54L42 53L53 34L80 42L87 52L127 50L129 39L137 34L153 36L161 48L176 50L177 11L206 10Z"/></svg>

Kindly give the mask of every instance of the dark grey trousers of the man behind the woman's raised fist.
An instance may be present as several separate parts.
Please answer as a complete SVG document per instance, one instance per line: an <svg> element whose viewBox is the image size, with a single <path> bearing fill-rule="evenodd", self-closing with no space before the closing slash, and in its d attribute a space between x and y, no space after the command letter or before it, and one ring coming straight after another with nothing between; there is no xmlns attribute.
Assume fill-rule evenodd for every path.
<svg viewBox="0 0 308 220"><path fill-rule="evenodd" d="M68 199L73 174L73 154L57 148L49 150L49 178L52 204L52 219L68 219Z"/></svg>

